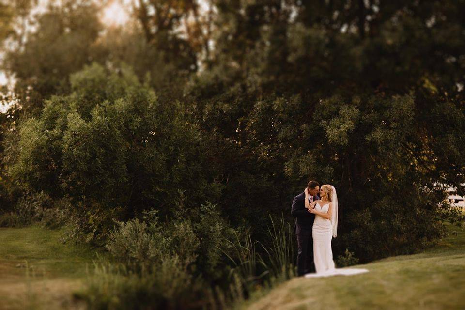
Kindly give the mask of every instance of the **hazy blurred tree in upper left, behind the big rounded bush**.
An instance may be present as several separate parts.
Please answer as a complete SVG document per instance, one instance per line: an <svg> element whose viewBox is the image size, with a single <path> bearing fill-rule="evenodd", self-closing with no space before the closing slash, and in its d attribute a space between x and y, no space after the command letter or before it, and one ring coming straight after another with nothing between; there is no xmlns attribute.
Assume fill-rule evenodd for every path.
<svg viewBox="0 0 465 310"><path fill-rule="evenodd" d="M25 42L7 51L3 66L15 77L23 113L35 115L45 98L67 93L69 75L93 61L93 43L102 29L97 13L91 0L50 4L30 20L34 27L24 34Z"/></svg>

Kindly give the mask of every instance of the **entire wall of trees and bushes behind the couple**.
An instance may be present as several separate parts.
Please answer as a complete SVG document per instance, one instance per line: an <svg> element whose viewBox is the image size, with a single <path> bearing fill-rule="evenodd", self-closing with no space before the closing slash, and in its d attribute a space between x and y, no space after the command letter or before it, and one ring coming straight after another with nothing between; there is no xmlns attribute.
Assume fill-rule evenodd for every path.
<svg viewBox="0 0 465 310"><path fill-rule="evenodd" d="M424 248L463 221L464 33L463 0L2 0L0 222L218 284L225 239L271 247L313 179L338 190L335 256Z"/></svg>

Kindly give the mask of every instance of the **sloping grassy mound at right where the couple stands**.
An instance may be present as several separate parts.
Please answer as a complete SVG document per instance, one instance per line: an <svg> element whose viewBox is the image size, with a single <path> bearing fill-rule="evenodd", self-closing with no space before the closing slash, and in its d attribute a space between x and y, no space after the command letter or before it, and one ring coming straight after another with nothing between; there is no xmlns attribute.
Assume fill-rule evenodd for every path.
<svg viewBox="0 0 465 310"><path fill-rule="evenodd" d="M241 308L465 309L465 230L448 229L448 237L422 253L353 266L370 270L361 275L294 278Z"/></svg>

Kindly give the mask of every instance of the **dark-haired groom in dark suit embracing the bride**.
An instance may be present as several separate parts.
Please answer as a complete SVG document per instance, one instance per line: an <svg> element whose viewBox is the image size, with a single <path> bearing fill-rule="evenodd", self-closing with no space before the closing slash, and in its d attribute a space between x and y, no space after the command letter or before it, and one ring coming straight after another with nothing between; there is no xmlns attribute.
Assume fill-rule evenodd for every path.
<svg viewBox="0 0 465 310"><path fill-rule="evenodd" d="M318 192L320 184L310 181L305 189L308 191L310 202L320 200ZM297 235L299 251L297 253L297 276L303 276L310 272L315 272L313 263L313 238L311 231L315 215L305 208L305 192L294 197L292 202L291 215L295 217L294 233Z"/></svg>

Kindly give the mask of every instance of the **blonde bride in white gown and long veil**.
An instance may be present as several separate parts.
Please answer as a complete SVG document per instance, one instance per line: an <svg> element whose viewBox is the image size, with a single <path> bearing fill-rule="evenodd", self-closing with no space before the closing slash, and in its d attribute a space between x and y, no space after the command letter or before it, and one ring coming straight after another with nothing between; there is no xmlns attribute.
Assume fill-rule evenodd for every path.
<svg viewBox="0 0 465 310"><path fill-rule="evenodd" d="M325 184L320 189L320 200L310 203L309 193L305 190L305 207L315 215L313 221L313 261L316 274L307 274L306 278L327 277L332 275L353 275L368 272L367 269L336 269L333 261L331 240L338 233L338 195L336 188Z"/></svg>

